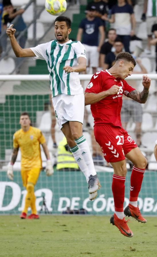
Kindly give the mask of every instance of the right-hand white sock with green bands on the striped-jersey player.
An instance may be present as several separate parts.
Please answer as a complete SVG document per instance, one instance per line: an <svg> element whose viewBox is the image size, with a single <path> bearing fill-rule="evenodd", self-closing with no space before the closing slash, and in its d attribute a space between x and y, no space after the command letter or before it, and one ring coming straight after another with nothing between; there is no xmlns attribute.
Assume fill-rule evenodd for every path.
<svg viewBox="0 0 157 257"><path fill-rule="evenodd" d="M89 176L90 175L96 175L96 171L94 168L94 163L92 159L92 155L89 149L89 145L86 141L86 138L84 136L80 136L78 139L75 140L75 143L79 147L82 153L82 158L85 160L85 163L87 164Z"/></svg>

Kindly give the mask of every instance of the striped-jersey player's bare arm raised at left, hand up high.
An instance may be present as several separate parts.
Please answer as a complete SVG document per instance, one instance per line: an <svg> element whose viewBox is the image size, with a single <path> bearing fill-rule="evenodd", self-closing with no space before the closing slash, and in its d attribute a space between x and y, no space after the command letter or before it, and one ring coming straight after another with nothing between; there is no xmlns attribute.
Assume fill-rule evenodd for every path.
<svg viewBox="0 0 157 257"><path fill-rule="evenodd" d="M13 24L9 26L6 30L6 34L8 35L12 49L16 55L16 57L34 57L36 56L33 51L30 48L21 48L20 45L17 43L15 39L15 31L16 29L13 29Z"/></svg>

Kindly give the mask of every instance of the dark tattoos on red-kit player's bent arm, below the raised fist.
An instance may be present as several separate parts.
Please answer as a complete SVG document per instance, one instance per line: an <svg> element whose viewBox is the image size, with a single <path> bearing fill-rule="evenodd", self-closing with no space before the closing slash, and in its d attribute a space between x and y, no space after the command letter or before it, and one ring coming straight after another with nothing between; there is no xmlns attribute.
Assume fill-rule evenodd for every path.
<svg viewBox="0 0 157 257"><path fill-rule="evenodd" d="M139 93L137 90L134 90L127 94L127 97L135 100L138 103L146 103L148 98L149 89L144 87L143 91Z"/></svg>

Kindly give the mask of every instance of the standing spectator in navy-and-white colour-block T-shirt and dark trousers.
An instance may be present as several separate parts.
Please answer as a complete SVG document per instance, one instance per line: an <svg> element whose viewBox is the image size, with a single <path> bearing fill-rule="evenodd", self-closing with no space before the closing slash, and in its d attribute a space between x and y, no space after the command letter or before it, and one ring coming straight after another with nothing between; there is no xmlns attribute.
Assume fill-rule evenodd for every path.
<svg viewBox="0 0 157 257"><path fill-rule="evenodd" d="M125 0L118 0L118 4L111 9L111 18L106 21L114 23L117 35L121 38L125 51L130 52L130 37L135 35L136 20L133 7L125 3Z"/></svg>

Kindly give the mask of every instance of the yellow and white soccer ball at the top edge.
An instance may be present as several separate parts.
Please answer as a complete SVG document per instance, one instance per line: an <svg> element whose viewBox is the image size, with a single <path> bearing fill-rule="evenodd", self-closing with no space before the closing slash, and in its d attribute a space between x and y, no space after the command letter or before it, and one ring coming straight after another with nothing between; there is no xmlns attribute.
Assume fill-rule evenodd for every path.
<svg viewBox="0 0 157 257"><path fill-rule="evenodd" d="M51 15L60 15L66 11L66 0L46 0L45 9Z"/></svg>

